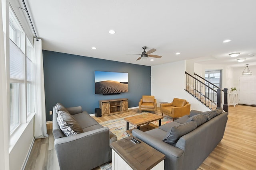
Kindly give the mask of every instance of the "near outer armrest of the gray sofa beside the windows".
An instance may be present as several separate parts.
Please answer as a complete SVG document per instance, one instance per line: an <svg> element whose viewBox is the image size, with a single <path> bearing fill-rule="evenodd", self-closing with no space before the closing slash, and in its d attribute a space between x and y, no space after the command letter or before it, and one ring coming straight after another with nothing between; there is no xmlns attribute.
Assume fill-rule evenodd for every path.
<svg viewBox="0 0 256 170"><path fill-rule="evenodd" d="M92 169L111 160L107 127L55 139L54 147L63 170Z"/></svg>

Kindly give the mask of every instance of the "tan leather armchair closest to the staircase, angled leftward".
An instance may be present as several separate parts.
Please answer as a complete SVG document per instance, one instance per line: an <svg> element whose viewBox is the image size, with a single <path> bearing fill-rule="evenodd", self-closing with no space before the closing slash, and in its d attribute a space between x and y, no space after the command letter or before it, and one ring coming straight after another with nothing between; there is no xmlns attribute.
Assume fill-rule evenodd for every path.
<svg viewBox="0 0 256 170"><path fill-rule="evenodd" d="M172 121L176 117L182 117L184 115L189 115L190 113L190 104L184 99L174 98L172 103L161 104L160 111L163 114L166 114L172 117Z"/></svg>

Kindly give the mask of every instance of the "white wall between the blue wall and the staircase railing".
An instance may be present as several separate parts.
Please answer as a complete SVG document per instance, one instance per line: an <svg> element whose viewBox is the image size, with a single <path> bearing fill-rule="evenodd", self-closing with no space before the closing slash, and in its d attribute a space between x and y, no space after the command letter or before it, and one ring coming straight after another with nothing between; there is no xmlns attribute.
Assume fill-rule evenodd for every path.
<svg viewBox="0 0 256 170"><path fill-rule="evenodd" d="M172 102L173 98L186 99L190 109L208 111L208 107L191 96L185 89L185 61L166 63L151 67L151 94L159 102Z"/></svg>

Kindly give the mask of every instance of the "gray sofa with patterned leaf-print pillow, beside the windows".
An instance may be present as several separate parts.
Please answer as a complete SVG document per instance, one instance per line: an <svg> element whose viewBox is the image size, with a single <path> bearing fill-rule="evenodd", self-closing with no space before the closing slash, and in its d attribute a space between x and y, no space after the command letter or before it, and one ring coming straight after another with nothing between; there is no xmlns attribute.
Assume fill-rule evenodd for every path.
<svg viewBox="0 0 256 170"><path fill-rule="evenodd" d="M82 111L81 106L65 108L60 103L56 106L70 127L80 129L77 134L74 130L71 136L66 136L57 122L56 107L53 107L52 133L60 170L90 170L112 159L109 144L117 140L116 135Z"/></svg>

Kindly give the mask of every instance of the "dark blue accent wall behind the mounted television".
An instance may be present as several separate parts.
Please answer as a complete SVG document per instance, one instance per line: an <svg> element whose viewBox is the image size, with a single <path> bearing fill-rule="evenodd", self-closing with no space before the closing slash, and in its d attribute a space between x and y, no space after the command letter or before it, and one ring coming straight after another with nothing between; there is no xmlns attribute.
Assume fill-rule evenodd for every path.
<svg viewBox="0 0 256 170"><path fill-rule="evenodd" d="M43 50L46 121L58 102L65 107L82 106L88 113L99 108L99 100L128 98L129 107L138 106L142 95L151 95L151 67L95 59ZM128 91L116 95L94 94L94 71L128 72Z"/></svg>

